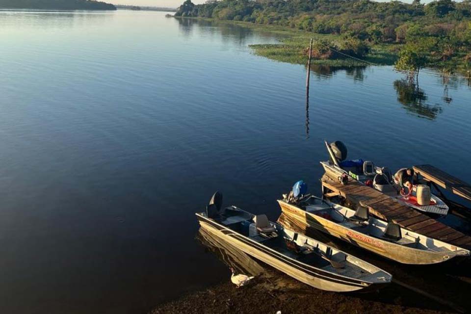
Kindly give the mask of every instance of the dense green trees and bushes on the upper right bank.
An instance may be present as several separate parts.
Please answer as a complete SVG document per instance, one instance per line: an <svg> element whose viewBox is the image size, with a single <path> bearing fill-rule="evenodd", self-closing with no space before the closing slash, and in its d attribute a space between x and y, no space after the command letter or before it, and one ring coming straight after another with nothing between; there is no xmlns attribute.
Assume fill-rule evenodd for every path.
<svg viewBox="0 0 471 314"><path fill-rule="evenodd" d="M366 57L378 52L379 47L383 52L393 52L396 67L406 71L416 72L426 65L471 68L471 0L437 0L425 5L420 0L412 4L369 0L220 0L199 5L186 0L176 16L245 21L337 35L335 40L327 37L316 41L313 57L318 60L345 58L338 52ZM288 47L295 52L295 46L287 44L266 48ZM263 47L256 48L263 53ZM306 50L306 44L298 48Z"/></svg>

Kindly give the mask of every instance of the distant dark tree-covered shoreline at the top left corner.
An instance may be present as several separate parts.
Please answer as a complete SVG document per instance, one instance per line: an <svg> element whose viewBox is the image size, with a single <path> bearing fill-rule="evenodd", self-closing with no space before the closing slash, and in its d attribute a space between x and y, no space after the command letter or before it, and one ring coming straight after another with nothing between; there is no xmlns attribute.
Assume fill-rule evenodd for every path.
<svg viewBox="0 0 471 314"><path fill-rule="evenodd" d="M37 10L116 10L113 4L93 0L0 0L0 8Z"/></svg>

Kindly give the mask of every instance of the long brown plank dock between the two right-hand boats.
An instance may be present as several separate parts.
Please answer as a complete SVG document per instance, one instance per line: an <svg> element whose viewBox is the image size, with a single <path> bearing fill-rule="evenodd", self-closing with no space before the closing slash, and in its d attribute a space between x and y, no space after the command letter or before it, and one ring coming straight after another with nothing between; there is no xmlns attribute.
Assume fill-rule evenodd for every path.
<svg viewBox="0 0 471 314"><path fill-rule="evenodd" d="M392 221L403 228L461 248L471 249L470 236L411 209L372 187L351 178L343 185L332 181L326 175L322 177L321 182L324 195L340 195L351 204L366 207L370 214L380 219Z"/></svg>

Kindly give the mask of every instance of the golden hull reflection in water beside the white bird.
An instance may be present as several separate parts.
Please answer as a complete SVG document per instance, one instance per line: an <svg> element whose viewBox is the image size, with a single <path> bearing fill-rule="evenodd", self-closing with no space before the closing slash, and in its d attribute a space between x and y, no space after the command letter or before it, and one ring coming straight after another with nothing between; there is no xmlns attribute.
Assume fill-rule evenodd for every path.
<svg viewBox="0 0 471 314"><path fill-rule="evenodd" d="M234 268L236 274L257 276L264 271L262 265L249 255L240 251L222 237L214 235L204 226L201 226L198 230L196 239L210 252L214 253L221 262Z"/></svg>

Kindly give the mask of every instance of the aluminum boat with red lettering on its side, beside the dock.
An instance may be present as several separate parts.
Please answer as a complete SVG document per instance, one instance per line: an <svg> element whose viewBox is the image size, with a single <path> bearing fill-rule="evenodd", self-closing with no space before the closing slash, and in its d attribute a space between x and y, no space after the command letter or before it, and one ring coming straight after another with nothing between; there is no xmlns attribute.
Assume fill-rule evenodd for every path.
<svg viewBox="0 0 471 314"><path fill-rule="evenodd" d="M434 264L470 256L469 250L371 217L363 207L353 210L311 195L294 202L287 197L278 203L301 230L314 228L397 262Z"/></svg>

